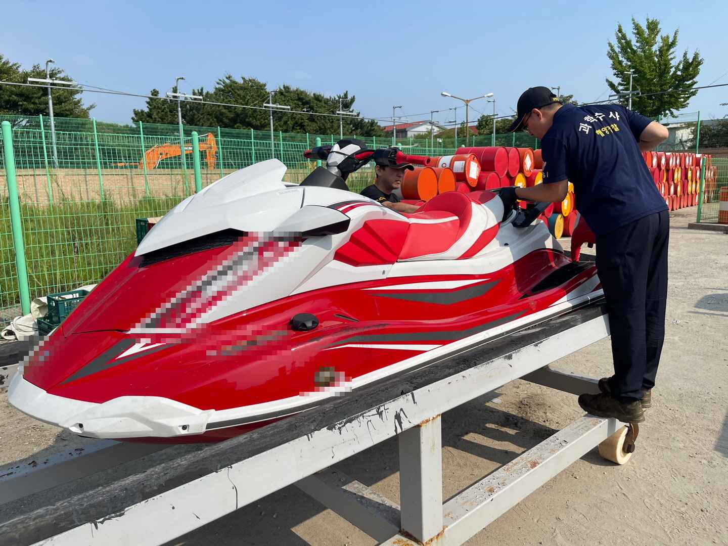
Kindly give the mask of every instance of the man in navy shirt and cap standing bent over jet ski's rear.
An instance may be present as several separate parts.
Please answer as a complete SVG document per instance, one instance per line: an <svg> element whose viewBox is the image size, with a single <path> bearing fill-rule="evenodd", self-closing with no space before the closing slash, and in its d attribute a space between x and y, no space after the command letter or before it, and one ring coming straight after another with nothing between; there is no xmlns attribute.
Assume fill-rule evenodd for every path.
<svg viewBox="0 0 728 546"><path fill-rule="evenodd" d="M505 188L515 199L558 202L574 184L576 208L596 235L596 266L612 334L614 375L600 395L581 395L589 414L644 421L665 339L669 216L641 156L668 137L657 122L624 106L562 105L547 87L518 99L509 132L541 139L543 184Z"/></svg>

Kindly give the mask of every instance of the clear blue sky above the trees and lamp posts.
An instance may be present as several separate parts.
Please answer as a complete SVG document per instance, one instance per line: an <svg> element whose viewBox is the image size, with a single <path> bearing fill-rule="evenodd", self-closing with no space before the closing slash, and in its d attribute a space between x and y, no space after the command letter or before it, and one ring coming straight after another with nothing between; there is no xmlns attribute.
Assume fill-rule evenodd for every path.
<svg viewBox="0 0 728 546"><path fill-rule="evenodd" d="M698 6L700 8L698 8ZM617 23L657 17L680 30L678 55L704 58L698 85L727 84L725 1L0 1L0 53L29 67L53 58L76 82L148 94L205 87L227 72L269 87L289 84L325 95L346 90L363 116L452 119L443 98L494 93L512 114L533 85L561 86L577 100L604 100L606 58ZM129 123L143 98L85 93L92 116ZM685 112L728 114L728 87L700 91ZM472 112L472 109L475 112ZM491 113L485 99L471 119ZM459 119L464 111L458 110Z"/></svg>

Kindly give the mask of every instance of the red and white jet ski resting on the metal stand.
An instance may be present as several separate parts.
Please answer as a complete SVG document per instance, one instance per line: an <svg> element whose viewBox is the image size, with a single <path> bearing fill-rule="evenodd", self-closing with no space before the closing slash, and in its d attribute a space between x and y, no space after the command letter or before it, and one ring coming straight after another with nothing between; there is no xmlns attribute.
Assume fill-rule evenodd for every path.
<svg viewBox="0 0 728 546"><path fill-rule="evenodd" d="M92 438L224 440L601 296L538 207L504 218L491 191L449 191L402 214L348 191L371 154L347 139L301 185L269 159L185 199L31 353L10 403Z"/></svg>

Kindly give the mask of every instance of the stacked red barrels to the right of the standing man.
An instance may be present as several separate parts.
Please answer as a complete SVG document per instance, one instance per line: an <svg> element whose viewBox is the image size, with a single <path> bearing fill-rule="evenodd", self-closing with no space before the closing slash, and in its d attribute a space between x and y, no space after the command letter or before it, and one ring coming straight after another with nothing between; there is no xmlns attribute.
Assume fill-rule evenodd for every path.
<svg viewBox="0 0 728 546"><path fill-rule="evenodd" d="M646 151L642 156L670 210L697 205L703 154ZM711 181L716 181L711 156L705 156L705 169L705 194L709 194Z"/></svg>

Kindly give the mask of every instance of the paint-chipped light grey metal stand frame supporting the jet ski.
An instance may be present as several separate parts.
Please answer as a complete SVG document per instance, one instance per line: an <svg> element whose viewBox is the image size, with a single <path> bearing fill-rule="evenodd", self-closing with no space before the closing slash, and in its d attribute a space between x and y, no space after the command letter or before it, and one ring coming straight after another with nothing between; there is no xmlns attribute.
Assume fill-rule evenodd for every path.
<svg viewBox="0 0 728 546"><path fill-rule="evenodd" d="M296 484L381 544L461 545L622 423L577 419L443 505L441 414L518 378L566 392L597 392L596 379L547 365L608 334L603 307L582 309L370 392L36 510L1 525L0 537L17 546L44 544L49 537L55 546L160 545ZM331 467L394 435L399 438L401 506ZM133 457L132 451L124 456ZM62 468L56 464L54 472ZM25 485L31 473L26 469L2 478L0 498L8 498L8 488L16 491L15 498L33 492L38 480L33 487ZM160 485L190 475L200 477L157 493Z"/></svg>

